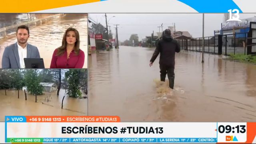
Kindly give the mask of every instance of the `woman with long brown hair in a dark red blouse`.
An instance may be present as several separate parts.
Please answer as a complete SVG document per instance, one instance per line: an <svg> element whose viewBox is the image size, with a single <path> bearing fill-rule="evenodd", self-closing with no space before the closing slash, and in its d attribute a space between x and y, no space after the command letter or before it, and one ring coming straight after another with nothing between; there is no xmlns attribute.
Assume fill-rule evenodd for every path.
<svg viewBox="0 0 256 144"><path fill-rule="evenodd" d="M84 52L80 50L79 33L74 28L68 28L62 38L62 46L52 54L50 68L82 68Z"/></svg>

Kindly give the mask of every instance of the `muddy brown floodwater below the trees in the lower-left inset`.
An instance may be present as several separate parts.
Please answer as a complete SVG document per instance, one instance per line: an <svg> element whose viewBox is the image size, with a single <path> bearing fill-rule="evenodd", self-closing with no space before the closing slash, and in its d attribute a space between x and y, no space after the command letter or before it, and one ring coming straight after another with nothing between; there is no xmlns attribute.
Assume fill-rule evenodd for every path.
<svg viewBox="0 0 256 144"><path fill-rule="evenodd" d="M64 89L60 89L60 95L54 92L44 92L44 95L35 96L28 94L25 100L24 90L20 90L18 98L17 90L0 90L0 121L4 121L4 116L86 116L87 99L71 98L65 96L63 109L61 109Z"/></svg>

